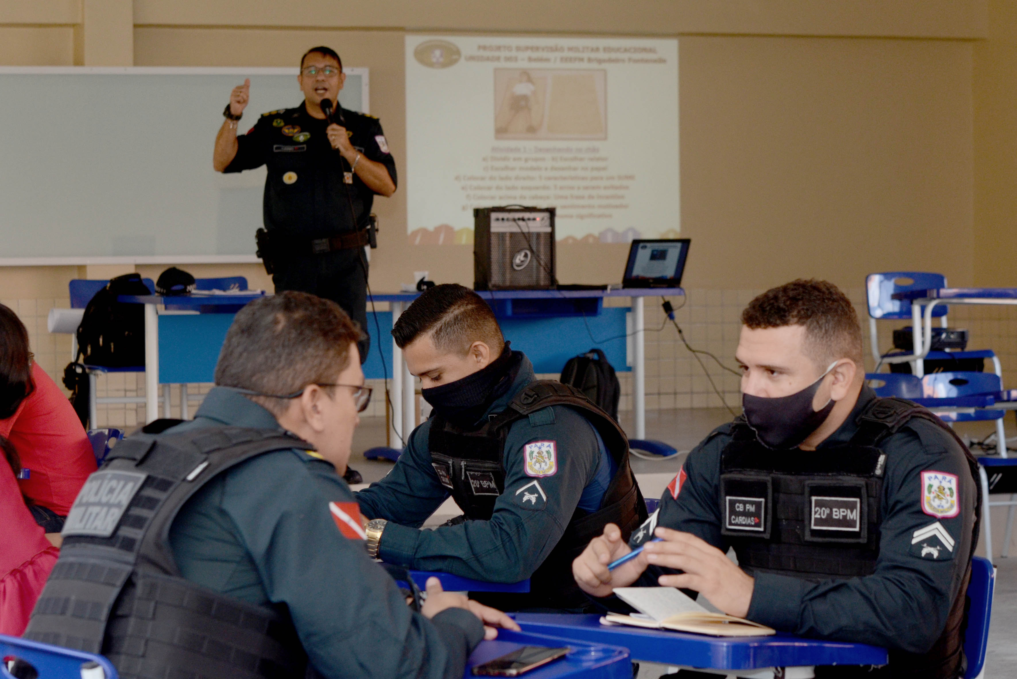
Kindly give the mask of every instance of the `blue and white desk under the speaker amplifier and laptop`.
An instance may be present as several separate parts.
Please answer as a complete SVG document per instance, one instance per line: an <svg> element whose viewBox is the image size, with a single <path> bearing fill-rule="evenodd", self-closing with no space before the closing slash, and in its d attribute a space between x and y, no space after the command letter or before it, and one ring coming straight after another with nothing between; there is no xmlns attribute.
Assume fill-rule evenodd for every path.
<svg viewBox="0 0 1017 679"><path fill-rule="evenodd" d="M608 359L612 361L616 369L622 369L624 361L618 361L613 354L624 348L624 335L632 334L632 371L633 371L633 411L636 420L635 436L629 441L634 448L647 450L656 454L674 454L676 450L660 441L646 440L646 318L644 312L643 299L646 297L683 297L684 291L681 288L645 288L645 289L619 289L619 290L501 290L501 291L478 291L478 295L487 300L495 314L499 316L498 322L505 330L505 336L513 338L513 332L517 334L533 334L533 323L539 323L546 338L543 343L546 346L554 345L553 352L560 353L560 364L554 371L559 371L564 365L564 361L573 356L589 350L593 341L590 340L587 329L599 310L602 309L603 300L608 297L627 297L632 299L633 326L625 327L624 312L618 313L614 309L602 309L603 314L609 314L610 325L606 327L614 328L613 332L607 336L620 335L616 344L607 343L604 347ZM388 302L392 305L392 320L395 323L403 310L417 299L420 293L394 293L374 295L375 302ZM570 310L571 306L571 310ZM602 315L603 315L602 314ZM530 326L524 329L524 325ZM515 329L514 329L515 326ZM605 327L605 325L600 325ZM582 346L576 350L572 345ZM519 349L526 348L525 343L520 343ZM536 354L535 354L536 356ZM539 371L538 371L539 372ZM393 343L393 379L392 379L392 408L393 418L390 422L388 440L393 446L397 446L403 440L404 434L409 434L416 427L414 404L413 377L410 375L403 361L403 352ZM377 448L373 449L377 454L385 454L393 458L397 457L401 450L383 452Z"/></svg>

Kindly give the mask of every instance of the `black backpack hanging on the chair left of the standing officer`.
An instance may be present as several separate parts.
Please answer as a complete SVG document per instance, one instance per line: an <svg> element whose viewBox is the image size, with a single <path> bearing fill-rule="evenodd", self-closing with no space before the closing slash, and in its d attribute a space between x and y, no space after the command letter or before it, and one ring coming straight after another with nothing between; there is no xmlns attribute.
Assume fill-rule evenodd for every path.
<svg viewBox="0 0 1017 679"><path fill-rule="evenodd" d="M117 296L151 294L140 273L118 275L96 293L77 326L82 363L108 368L144 365L144 306L117 302Z"/></svg>

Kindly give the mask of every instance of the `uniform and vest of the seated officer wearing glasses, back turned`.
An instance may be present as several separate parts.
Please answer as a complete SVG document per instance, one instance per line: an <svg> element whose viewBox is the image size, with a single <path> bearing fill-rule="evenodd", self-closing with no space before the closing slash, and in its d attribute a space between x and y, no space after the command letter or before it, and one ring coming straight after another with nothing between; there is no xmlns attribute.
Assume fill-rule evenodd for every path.
<svg viewBox="0 0 1017 679"><path fill-rule="evenodd" d="M482 624L407 607L341 534L356 504L315 454L223 387L193 422L128 437L75 501L25 636L126 679L459 679Z"/></svg>

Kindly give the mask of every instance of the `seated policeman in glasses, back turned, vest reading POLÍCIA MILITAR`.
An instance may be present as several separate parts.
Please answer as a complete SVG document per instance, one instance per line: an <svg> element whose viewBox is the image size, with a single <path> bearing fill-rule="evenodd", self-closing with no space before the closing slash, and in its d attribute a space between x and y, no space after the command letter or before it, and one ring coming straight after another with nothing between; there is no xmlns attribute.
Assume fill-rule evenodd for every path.
<svg viewBox="0 0 1017 679"><path fill-rule="evenodd" d="M436 578L415 612L367 557L340 476L370 396L359 338L306 293L244 307L194 421L89 477L25 636L125 678L459 679L484 622L518 629Z"/></svg>

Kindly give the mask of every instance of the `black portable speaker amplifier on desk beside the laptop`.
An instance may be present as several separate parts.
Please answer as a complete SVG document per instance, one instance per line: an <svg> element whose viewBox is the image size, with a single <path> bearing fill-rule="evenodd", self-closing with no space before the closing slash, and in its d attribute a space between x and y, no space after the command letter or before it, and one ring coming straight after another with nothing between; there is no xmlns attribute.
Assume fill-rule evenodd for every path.
<svg viewBox="0 0 1017 679"><path fill-rule="evenodd" d="M473 220L474 290L555 287L553 207L478 207Z"/></svg>

